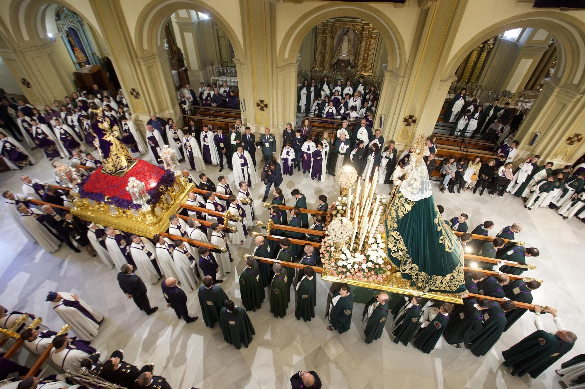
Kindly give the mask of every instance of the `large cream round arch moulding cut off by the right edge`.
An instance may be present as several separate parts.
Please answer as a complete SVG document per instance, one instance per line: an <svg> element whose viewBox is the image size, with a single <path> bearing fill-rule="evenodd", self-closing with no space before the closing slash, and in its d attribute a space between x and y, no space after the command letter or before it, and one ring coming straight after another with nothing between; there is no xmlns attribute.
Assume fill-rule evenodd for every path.
<svg viewBox="0 0 585 389"><path fill-rule="evenodd" d="M446 63L443 79L455 74L464 58L488 38L507 30L530 27L546 30L559 50L558 71L555 77L559 86L585 87L585 23L560 12L529 12L503 19L487 27L468 40ZM567 55L570 53L572 55Z"/></svg>

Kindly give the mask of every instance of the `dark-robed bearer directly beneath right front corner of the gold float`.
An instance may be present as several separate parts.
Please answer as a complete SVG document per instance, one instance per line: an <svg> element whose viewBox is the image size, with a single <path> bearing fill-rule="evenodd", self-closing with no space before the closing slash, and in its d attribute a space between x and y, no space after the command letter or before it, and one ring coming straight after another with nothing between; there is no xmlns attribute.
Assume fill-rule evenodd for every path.
<svg viewBox="0 0 585 389"><path fill-rule="evenodd" d="M466 300L463 309L449 315L449 323L443 336L447 343L460 349L459 343L469 343L481 331L481 311L491 308L491 301L483 298L477 302L474 298Z"/></svg>

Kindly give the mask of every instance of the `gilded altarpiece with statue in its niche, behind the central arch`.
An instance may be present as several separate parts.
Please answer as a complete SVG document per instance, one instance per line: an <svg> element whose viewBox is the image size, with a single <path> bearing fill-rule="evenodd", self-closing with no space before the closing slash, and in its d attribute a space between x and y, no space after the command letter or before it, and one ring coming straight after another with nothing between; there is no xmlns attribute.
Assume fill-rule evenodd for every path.
<svg viewBox="0 0 585 389"><path fill-rule="evenodd" d="M379 39L380 34L369 23L355 19L325 20L316 27L313 70L343 74L351 68L356 74L371 75ZM346 50L341 50L342 46Z"/></svg>

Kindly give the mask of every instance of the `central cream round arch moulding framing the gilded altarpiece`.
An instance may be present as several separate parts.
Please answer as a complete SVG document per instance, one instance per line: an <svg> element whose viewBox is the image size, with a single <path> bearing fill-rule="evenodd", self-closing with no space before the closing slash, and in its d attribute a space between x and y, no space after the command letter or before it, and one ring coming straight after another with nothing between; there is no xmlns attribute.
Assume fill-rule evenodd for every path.
<svg viewBox="0 0 585 389"><path fill-rule="evenodd" d="M324 4L304 13L295 22L290 23L290 28L284 34L278 48L277 64L284 66L297 61L305 36L323 20L351 15L370 23L382 37L388 51L388 70L394 70L399 75L404 75L406 64L406 49L404 40L398 27L380 10L360 3L359 8L347 5Z"/></svg>

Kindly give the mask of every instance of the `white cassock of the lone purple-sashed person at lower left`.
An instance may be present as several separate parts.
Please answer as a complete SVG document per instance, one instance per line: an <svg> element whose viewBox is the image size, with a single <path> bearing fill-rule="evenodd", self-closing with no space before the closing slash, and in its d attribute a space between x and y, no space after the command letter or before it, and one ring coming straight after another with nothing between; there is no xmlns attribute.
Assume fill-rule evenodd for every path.
<svg viewBox="0 0 585 389"><path fill-rule="evenodd" d="M63 300L75 301L73 294L67 292L57 292ZM85 316L80 310L74 307L66 307L63 304L63 300L58 303L53 303L53 310L64 322L71 325L71 329L77 334L77 336L84 341L91 341L98 335L99 324L92 319ZM92 308L90 304L79 299L79 303L85 308L98 322L104 319L104 315L99 313L95 308Z"/></svg>

